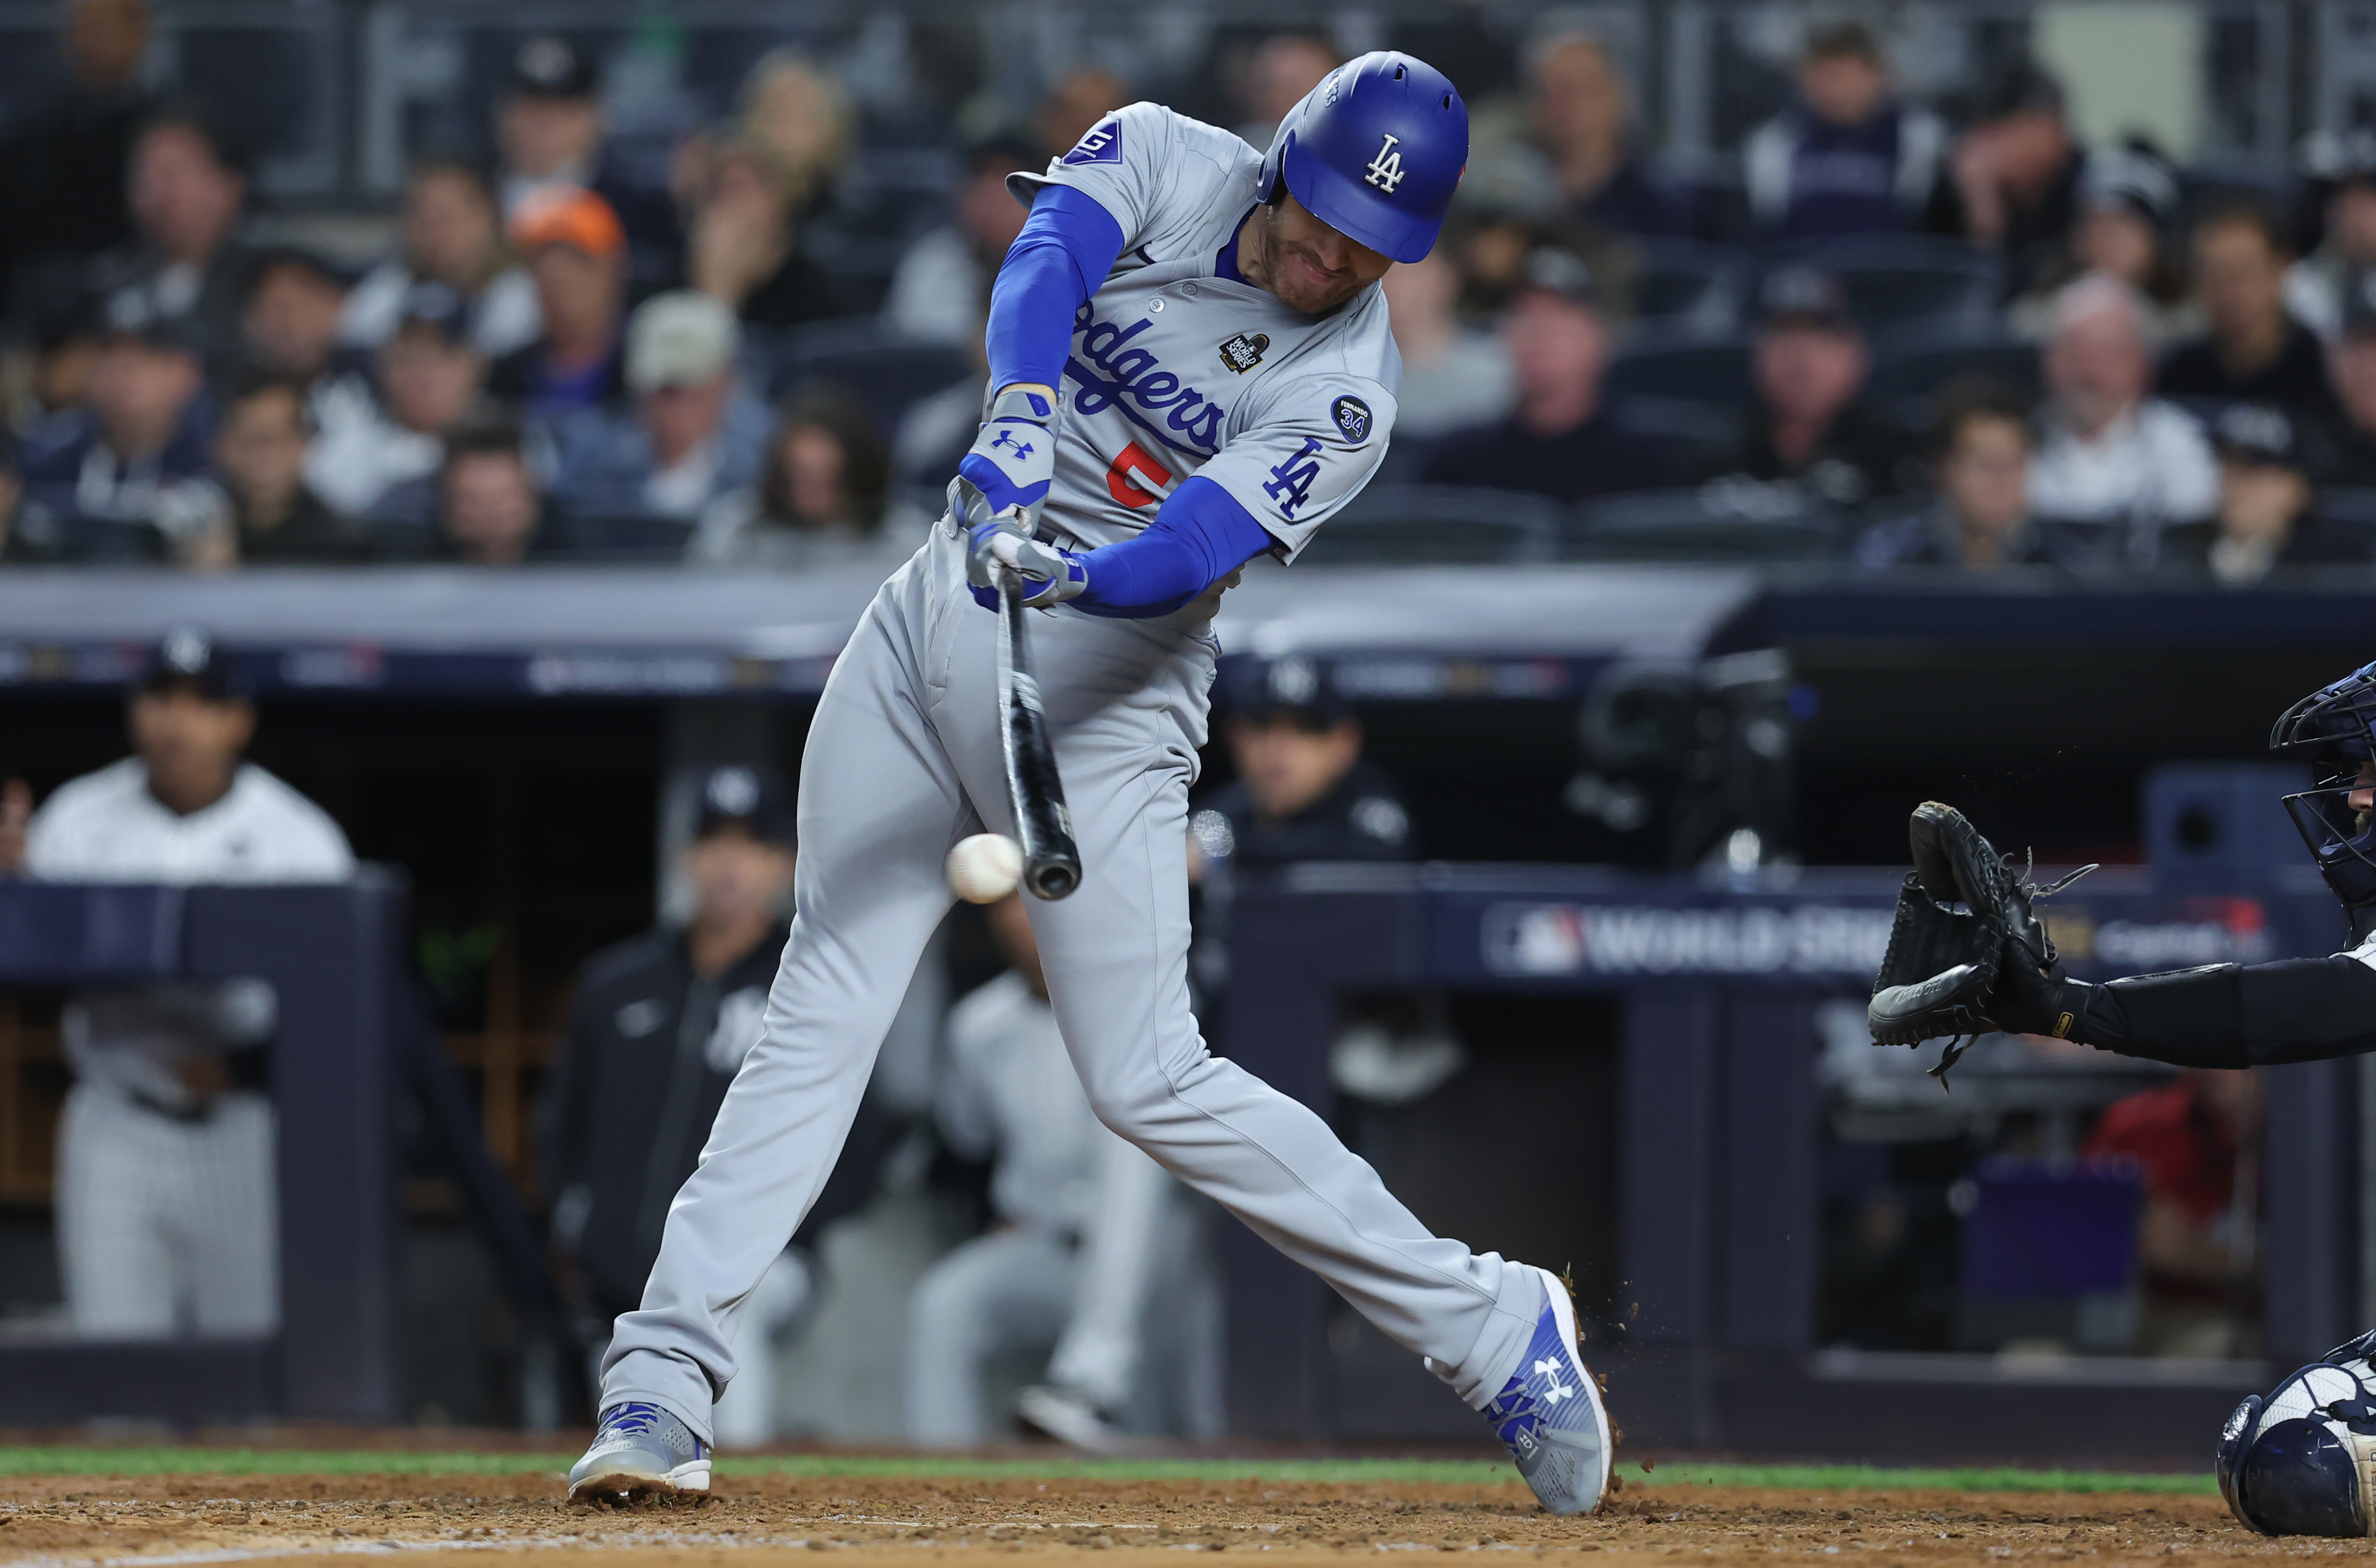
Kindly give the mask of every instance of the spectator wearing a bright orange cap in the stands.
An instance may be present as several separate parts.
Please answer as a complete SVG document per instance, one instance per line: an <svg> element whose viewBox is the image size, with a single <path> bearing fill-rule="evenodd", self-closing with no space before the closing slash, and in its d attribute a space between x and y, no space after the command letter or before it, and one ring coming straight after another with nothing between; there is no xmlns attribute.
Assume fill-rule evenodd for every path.
<svg viewBox="0 0 2376 1568"><path fill-rule="evenodd" d="M537 283L544 330L494 361L487 390L544 418L618 404L627 390L627 235L618 214L592 190L549 185L511 214L511 242Z"/></svg>

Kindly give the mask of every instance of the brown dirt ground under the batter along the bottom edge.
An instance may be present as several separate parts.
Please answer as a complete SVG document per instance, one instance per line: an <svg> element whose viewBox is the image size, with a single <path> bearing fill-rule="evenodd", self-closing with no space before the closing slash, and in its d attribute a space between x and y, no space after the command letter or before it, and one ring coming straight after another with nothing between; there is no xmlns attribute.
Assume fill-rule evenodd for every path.
<svg viewBox="0 0 2376 1568"><path fill-rule="evenodd" d="M233 1563L444 1551L601 1551L606 1566L748 1563L796 1551L877 1561L979 1554L1264 1551L1274 1561L1380 1551L1616 1554L1618 1558L1851 1556L2274 1558L2355 1542L2269 1542L2217 1497L2141 1492L1763 1490L1635 1480L1599 1518L1556 1520L1509 1485L1219 1480L965 1480L722 1475L696 1509L573 1509L558 1475L12 1475L0 1563ZM803 1558L808 1561L808 1558ZM1609 1558L1601 1558L1609 1561Z"/></svg>

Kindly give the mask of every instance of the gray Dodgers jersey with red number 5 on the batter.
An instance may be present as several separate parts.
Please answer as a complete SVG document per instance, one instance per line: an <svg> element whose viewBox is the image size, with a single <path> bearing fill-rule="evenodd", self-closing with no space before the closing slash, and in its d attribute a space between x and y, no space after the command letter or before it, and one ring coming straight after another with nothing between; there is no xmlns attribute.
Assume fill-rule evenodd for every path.
<svg viewBox="0 0 2376 1568"><path fill-rule="evenodd" d="M1228 131L1131 105L1048 173L1007 176L1026 200L1072 185L1121 226L1121 259L1074 321L1041 508L1083 544L1136 535L1200 473L1293 561L1385 459L1402 387L1385 290L1304 316L1221 276L1259 171Z"/></svg>

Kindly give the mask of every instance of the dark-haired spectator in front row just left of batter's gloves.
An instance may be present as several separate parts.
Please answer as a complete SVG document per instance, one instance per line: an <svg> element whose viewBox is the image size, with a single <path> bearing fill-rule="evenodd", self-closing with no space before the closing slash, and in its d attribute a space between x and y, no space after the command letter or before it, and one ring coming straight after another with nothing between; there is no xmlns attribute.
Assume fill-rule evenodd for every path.
<svg viewBox="0 0 2376 1568"><path fill-rule="evenodd" d="M889 577L931 518L891 497L891 454L839 387L786 399L753 485L718 497L687 544L694 565L808 573L867 565Z"/></svg>

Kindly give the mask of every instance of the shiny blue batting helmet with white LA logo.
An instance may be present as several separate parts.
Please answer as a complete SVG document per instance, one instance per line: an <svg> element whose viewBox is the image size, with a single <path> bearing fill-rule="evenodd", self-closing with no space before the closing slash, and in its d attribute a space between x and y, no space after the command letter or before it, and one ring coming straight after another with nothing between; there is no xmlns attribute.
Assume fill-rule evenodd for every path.
<svg viewBox="0 0 2376 1568"><path fill-rule="evenodd" d="M1418 261L1468 166L1468 105L1435 67L1395 50L1347 59L1288 109L1262 157L1328 228L1395 261Z"/></svg>

